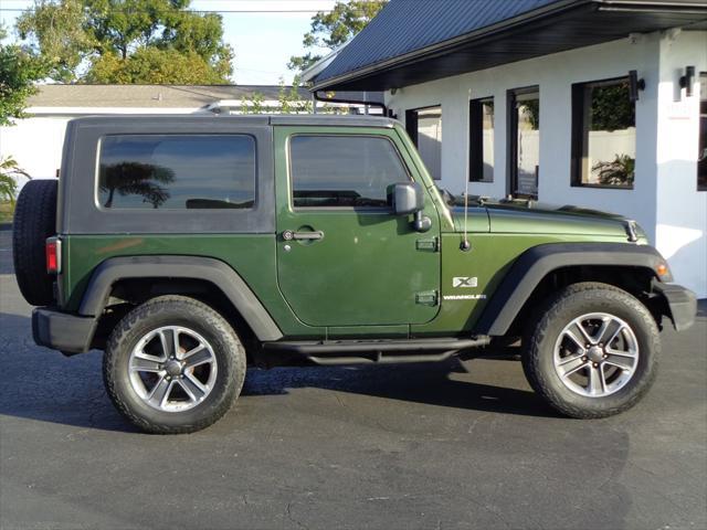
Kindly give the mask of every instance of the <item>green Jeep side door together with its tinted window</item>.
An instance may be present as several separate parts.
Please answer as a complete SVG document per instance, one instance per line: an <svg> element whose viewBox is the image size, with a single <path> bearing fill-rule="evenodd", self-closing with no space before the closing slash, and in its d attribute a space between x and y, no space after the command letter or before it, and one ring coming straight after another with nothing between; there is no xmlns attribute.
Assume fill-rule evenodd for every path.
<svg viewBox="0 0 707 530"><path fill-rule="evenodd" d="M429 232L397 215L390 187L409 182L394 129L277 127L277 279L309 326L422 324L439 310L440 234L425 197ZM320 132L320 130L324 130ZM426 191L425 191L426 193Z"/></svg>

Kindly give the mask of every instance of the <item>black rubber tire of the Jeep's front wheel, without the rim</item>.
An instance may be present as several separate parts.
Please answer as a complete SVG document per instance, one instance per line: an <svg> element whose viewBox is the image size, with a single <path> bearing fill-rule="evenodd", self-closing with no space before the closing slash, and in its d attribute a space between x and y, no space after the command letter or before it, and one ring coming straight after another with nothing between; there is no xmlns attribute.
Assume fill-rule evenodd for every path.
<svg viewBox="0 0 707 530"><path fill-rule="evenodd" d="M624 320L640 349L632 379L613 394L589 398L569 390L553 364L553 349L561 330L572 319L590 312L606 312ZM619 414L635 405L648 391L657 372L661 339L654 318L629 293L608 284L573 284L547 300L524 340L523 368L532 389L555 410L576 418Z"/></svg>

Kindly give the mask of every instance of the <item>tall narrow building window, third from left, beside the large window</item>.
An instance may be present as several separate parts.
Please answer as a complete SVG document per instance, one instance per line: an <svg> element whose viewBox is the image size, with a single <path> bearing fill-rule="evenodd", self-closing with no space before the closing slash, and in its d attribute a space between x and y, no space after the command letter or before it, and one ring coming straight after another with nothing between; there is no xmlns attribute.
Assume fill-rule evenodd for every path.
<svg viewBox="0 0 707 530"><path fill-rule="evenodd" d="M540 91L537 86L508 93L509 192L538 198L540 171Z"/></svg>

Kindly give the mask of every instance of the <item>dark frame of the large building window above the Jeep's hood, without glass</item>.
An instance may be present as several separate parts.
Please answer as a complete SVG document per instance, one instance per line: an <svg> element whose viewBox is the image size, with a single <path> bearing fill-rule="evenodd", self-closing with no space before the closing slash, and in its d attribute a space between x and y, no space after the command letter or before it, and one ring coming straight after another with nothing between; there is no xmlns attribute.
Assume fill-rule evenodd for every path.
<svg viewBox="0 0 707 530"><path fill-rule="evenodd" d="M629 81L627 75L619 77L609 77L603 80L583 81L581 83L572 83L571 86L571 135L570 135L570 186L572 188L588 188L597 190L635 190L635 170L634 181L631 186L611 186L611 184L587 184L582 182L584 177L584 87L587 85L612 84L622 81ZM635 103L633 103L635 113ZM635 114L634 114L635 116ZM635 121L635 119L634 119ZM637 128L635 139L637 140ZM636 157L637 158L637 157Z"/></svg>

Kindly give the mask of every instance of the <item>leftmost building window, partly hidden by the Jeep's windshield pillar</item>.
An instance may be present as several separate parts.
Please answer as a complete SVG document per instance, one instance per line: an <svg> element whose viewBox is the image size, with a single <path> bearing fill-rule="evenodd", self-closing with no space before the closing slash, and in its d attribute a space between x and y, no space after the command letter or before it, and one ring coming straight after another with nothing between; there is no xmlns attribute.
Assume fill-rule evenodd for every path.
<svg viewBox="0 0 707 530"><path fill-rule="evenodd" d="M442 178L442 107L405 112L405 128L434 180Z"/></svg>

